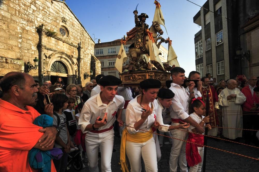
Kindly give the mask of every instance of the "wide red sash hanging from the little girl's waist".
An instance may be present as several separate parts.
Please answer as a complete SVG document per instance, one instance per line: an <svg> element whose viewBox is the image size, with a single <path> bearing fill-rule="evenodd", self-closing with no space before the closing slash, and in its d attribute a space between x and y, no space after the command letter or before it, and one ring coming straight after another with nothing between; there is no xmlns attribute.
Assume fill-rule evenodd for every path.
<svg viewBox="0 0 259 172"><path fill-rule="evenodd" d="M202 162L202 158L200 157L200 154L198 152L198 147L203 147L200 145L196 145L193 143L197 144L204 144L204 136L200 134L194 134L194 133L189 133L188 140L192 143L186 143L186 160L187 163L190 167L199 164Z"/></svg>

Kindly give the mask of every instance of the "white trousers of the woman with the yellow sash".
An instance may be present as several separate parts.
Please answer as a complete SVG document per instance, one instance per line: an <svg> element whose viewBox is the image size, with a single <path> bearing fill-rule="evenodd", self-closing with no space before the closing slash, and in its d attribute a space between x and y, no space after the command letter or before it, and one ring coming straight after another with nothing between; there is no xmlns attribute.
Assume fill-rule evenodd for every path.
<svg viewBox="0 0 259 172"><path fill-rule="evenodd" d="M146 172L157 172L156 145L152 137L144 143L126 141L126 154L130 161L131 172L141 172L141 156Z"/></svg>

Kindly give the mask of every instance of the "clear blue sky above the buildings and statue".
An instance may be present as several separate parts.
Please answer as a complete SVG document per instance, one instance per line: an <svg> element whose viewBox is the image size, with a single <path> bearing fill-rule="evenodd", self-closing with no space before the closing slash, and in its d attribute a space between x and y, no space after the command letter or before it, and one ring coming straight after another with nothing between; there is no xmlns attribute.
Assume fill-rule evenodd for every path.
<svg viewBox="0 0 259 172"><path fill-rule="evenodd" d="M191 0L202 6L206 0ZM101 42L121 39L126 32L135 27L133 11L138 5L138 14L146 13L149 18L146 23L151 26L154 13L154 0L66 0L69 8L83 24L90 36ZM194 35L201 29L193 23L193 17L200 7L186 0L161 0L161 10L165 19L163 38L170 37L172 46L177 55L180 67L185 70L185 75L195 70L195 45ZM168 49L167 44L162 44Z"/></svg>

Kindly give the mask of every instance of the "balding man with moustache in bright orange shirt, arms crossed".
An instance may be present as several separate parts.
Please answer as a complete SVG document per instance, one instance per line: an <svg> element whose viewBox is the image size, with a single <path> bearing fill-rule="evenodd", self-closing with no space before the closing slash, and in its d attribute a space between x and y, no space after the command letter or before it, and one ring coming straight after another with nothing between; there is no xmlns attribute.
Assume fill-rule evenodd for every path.
<svg viewBox="0 0 259 172"><path fill-rule="evenodd" d="M40 114L31 106L37 102L37 84L27 73L9 72L1 82L0 171L35 171L28 162L30 149L53 148L57 129L34 125ZM56 172L53 161L51 171Z"/></svg>

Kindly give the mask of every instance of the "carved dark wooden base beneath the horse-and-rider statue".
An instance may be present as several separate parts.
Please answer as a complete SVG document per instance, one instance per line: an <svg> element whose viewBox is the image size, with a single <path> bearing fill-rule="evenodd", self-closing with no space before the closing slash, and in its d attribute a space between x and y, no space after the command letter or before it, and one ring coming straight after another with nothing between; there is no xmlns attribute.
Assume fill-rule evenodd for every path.
<svg viewBox="0 0 259 172"><path fill-rule="evenodd" d="M139 83L145 79L158 79L161 81L162 86L166 86L166 81L170 79L170 72L162 72L162 71L135 71L129 74L127 73L119 73L120 79L122 81L123 87L135 87L139 86Z"/></svg>

